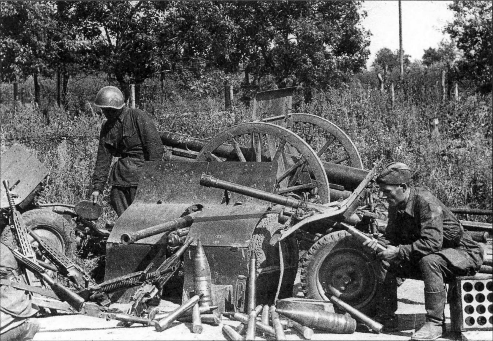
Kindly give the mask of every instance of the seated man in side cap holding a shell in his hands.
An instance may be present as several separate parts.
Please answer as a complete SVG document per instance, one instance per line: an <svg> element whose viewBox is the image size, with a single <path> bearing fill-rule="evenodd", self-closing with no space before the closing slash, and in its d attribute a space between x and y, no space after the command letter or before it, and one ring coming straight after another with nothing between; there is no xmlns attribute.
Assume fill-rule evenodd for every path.
<svg viewBox="0 0 493 341"><path fill-rule="evenodd" d="M445 331L445 282L473 275L483 263L483 250L442 202L411 185L411 170L393 162L377 177L388 202L388 223L378 239L387 250L381 259L376 320L384 331L398 330L396 277L424 281L426 322L411 340L436 340ZM364 245L376 249L377 239Z"/></svg>

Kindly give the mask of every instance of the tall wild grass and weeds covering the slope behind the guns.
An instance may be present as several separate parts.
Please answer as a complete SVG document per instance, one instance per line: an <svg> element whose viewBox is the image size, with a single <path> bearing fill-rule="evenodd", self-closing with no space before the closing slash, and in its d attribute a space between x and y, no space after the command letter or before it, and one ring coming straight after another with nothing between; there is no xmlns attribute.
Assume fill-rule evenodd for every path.
<svg viewBox="0 0 493 341"><path fill-rule="evenodd" d="M414 183L446 205L491 209L492 96L480 97L460 85L458 103L442 103L439 74L433 68L413 69L403 83L390 74L387 84L396 85L393 107L389 90L377 90L376 75L367 72L345 87L316 92L309 103L295 97L293 109L337 124L352 138L365 168L379 159L402 161L414 170ZM70 84L66 109L54 104L51 80L42 82L39 108L32 102L30 82L20 86L20 103L12 100L12 86L2 84L0 151L22 143L50 170L40 201L74 204L88 198L102 123L91 102L107 84L103 77ZM206 95L197 88L200 84L195 92L187 92L169 82L161 90L158 81L148 80L142 85L141 108L152 115L158 130L200 138L251 120L252 108L242 102L237 101L232 112L224 111L220 85ZM439 134L430 133L430 118L439 119ZM104 218L114 219L107 203L104 213Z"/></svg>

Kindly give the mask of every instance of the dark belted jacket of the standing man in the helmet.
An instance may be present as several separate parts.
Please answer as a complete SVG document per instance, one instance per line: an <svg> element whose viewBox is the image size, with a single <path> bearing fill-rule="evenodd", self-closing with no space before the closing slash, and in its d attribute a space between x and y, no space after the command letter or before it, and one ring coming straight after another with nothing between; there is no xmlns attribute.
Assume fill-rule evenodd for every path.
<svg viewBox="0 0 493 341"><path fill-rule="evenodd" d="M149 115L125 106L120 116L103 124L93 190L103 192L112 157L118 160L111 170L109 183L123 187L137 186L145 161L162 160L163 143Z"/></svg>

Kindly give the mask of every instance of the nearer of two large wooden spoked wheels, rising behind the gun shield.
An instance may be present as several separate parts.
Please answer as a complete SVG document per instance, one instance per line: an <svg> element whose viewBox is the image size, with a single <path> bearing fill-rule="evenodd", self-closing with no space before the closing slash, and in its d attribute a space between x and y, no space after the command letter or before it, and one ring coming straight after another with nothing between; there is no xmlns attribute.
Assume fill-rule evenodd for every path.
<svg viewBox="0 0 493 341"><path fill-rule="evenodd" d="M222 131L202 148L197 161L277 162L277 194L330 201L317 153L300 136L272 123L243 123Z"/></svg>

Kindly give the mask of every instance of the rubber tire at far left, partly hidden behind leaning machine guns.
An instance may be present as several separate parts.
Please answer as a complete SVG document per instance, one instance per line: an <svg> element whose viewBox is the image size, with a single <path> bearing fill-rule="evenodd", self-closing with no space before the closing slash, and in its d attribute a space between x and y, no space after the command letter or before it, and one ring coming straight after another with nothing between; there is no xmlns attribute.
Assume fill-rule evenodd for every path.
<svg viewBox="0 0 493 341"><path fill-rule="evenodd" d="M43 208L26 211L22 213L22 218L28 232L38 232L40 238L45 239L67 257L73 257L73 229L67 219L60 214Z"/></svg>

